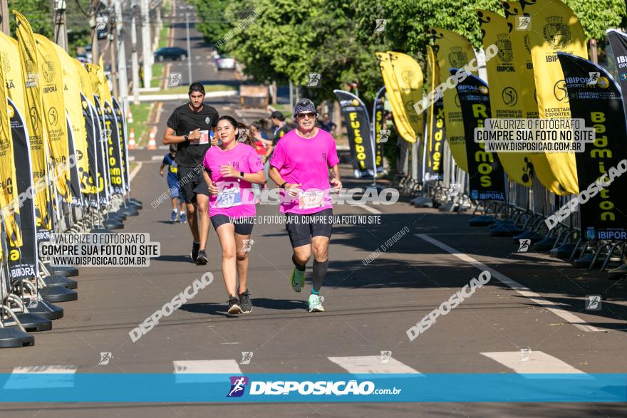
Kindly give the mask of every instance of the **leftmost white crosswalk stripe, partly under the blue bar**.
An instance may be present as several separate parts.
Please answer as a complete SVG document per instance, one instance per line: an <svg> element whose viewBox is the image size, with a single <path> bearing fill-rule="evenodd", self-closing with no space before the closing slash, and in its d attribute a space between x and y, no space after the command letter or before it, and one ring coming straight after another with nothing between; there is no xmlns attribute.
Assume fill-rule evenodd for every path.
<svg viewBox="0 0 627 418"><path fill-rule="evenodd" d="M46 379L32 375L46 374ZM56 376L58 375L58 376ZM76 366L26 366L14 367L3 389L43 389L48 387L73 387Z"/></svg>

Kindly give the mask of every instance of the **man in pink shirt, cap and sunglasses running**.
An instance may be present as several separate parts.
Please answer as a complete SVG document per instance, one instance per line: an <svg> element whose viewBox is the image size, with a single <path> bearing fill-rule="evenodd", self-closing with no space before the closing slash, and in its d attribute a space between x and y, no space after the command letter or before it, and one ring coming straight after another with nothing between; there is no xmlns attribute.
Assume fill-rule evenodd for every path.
<svg viewBox="0 0 627 418"><path fill-rule="evenodd" d="M314 281L309 312L323 311L319 296L328 268L328 242L333 226L333 189L342 187L333 136L316 127L316 106L303 99L294 106L296 129L284 135L270 160L270 178L281 187L281 213L294 254L291 286L303 290L305 266L314 251ZM331 169L331 180L329 180Z"/></svg>

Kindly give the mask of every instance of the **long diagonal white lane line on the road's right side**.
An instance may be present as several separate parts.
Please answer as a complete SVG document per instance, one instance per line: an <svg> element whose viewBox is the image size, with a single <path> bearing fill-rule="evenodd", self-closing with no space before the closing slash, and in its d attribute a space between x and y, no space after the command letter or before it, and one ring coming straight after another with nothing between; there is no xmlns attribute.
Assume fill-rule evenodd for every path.
<svg viewBox="0 0 627 418"><path fill-rule="evenodd" d="M465 261L466 263L469 263L470 265L482 271L483 270L489 271L492 277L496 278L501 283L504 283L505 285L509 286L510 288L512 288L512 290L516 291L520 295L524 296L525 298L529 298L530 301L537 303L538 305L542 306L546 310L549 310L549 312L552 312L555 315L559 316L559 318L562 318L567 323L571 323L572 325L575 325L576 328L579 328L579 330L586 331L587 333L604 331L592 325L588 325L586 321L579 318L579 316L574 315L574 313L570 313L567 310L559 308L559 305L557 305L556 303L553 303L541 297L538 293L532 292L531 290L529 290L529 288L527 288L526 286L523 286L521 283L518 283L517 281L514 281L512 278L509 278L505 276L504 274L499 273L493 268L489 268L488 266L481 263L480 261L477 261L475 258L472 258L471 256L467 254L464 254L450 246L447 246L443 242L437 241L437 239L433 239L427 234L414 234L414 235L418 236L418 238L420 239L424 239L428 243L433 244L444 251L447 251L447 253L452 254L453 256L459 258L460 260Z"/></svg>

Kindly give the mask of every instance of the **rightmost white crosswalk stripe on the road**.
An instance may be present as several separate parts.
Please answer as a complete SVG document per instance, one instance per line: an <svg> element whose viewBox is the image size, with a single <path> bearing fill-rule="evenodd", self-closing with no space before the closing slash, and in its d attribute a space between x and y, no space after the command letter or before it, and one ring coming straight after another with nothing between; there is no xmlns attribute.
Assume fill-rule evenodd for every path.
<svg viewBox="0 0 627 418"><path fill-rule="evenodd" d="M520 351L482 352L481 354L521 374L576 373L586 375L586 372L582 372L568 363L559 360L559 358L542 351L531 351L529 352L529 357L524 356ZM524 358L527 358L527 360L523 360Z"/></svg>

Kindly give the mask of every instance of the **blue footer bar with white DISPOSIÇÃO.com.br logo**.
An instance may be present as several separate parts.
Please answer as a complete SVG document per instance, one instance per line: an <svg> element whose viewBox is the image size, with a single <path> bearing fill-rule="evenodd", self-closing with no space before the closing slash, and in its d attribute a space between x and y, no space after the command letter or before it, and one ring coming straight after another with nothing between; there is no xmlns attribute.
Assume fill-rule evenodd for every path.
<svg viewBox="0 0 627 418"><path fill-rule="evenodd" d="M0 374L0 402L627 402L627 374Z"/></svg>

